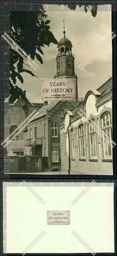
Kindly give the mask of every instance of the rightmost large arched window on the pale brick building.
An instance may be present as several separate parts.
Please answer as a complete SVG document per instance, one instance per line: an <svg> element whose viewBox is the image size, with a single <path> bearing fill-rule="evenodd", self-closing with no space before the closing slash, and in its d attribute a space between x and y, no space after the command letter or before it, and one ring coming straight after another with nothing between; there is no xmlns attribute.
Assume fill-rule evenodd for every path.
<svg viewBox="0 0 117 256"><path fill-rule="evenodd" d="M104 157L112 157L112 123L110 112L105 112L101 116L103 133L103 152Z"/></svg>

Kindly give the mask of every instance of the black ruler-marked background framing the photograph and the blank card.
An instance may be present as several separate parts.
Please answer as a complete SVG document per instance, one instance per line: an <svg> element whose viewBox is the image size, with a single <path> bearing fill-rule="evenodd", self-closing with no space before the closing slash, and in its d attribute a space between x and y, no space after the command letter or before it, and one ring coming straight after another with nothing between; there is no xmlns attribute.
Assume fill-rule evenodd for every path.
<svg viewBox="0 0 117 256"><path fill-rule="evenodd" d="M4 34L5 32L5 22L7 21L7 18L5 20L5 4L9 5L12 4L13 8L15 8L16 6L19 4L21 4L22 1L20 0L6 0L4 2L1 1L1 11L2 11L2 15L1 15L1 36ZM60 0L60 1L55 1L55 0L49 0L49 1L38 1L38 0L24 0L23 1L24 4L26 5L34 5L37 3L40 4L85 4L85 1L67 1L67 0ZM116 32L116 1L86 1L86 3L90 4L98 4L98 5L104 5L104 4L112 4L111 8L112 8L112 31L117 34ZM23 4L23 6L24 6ZM27 6L26 6L27 7ZM11 11L11 10L10 10ZM9 23L9 21L8 21ZM9 24L8 24L9 26ZM1 142L4 141L4 78L5 78L5 41L1 40L1 49L0 49L0 58L1 58L1 88L0 88L0 104L1 104L1 109L0 109L0 113L1 113ZM8 60L6 60L8 61ZM8 61L9 62L9 61ZM7 64L8 65L8 64ZM113 81L113 90L112 90L112 127L113 127L113 141L116 143L116 38L114 40L112 40L112 81ZM22 182L23 180L25 180L26 182L33 182L33 181L41 181L41 182L92 182L92 180L96 180L97 182L100 182L102 180L102 182L114 182L114 243L115 243L115 253L97 253L97 255L116 255L116 146L113 148L113 175L25 175L25 174L17 174L17 175L11 175L11 174L4 174L4 148L0 145L0 185L1 185L1 241L0 241L0 245L1 245L1 255L3 254L3 182L7 181L7 182L12 182L12 181L16 181L16 182ZM7 253L8 255L15 255L12 253ZM26 253L28 255L28 253ZM59 253L29 253L29 255L60 255ZM74 255L72 253L63 253L65 255ZM21 255L20 253L17 253L17 255ZM91 253L77 253L77 255L91 255Z"/></svg>

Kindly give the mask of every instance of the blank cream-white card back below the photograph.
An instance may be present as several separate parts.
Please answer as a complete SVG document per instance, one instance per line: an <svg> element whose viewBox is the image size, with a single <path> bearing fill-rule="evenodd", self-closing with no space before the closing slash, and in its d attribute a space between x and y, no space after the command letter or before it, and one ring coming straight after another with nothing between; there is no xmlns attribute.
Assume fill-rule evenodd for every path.
<svg viewBox="0 0 117 256"><path fill-rule="evenodd" d="M114 252L112 183L14 184L3 184L4 253ZM49 210L70 211L70 225L48 225Z"/></svg>

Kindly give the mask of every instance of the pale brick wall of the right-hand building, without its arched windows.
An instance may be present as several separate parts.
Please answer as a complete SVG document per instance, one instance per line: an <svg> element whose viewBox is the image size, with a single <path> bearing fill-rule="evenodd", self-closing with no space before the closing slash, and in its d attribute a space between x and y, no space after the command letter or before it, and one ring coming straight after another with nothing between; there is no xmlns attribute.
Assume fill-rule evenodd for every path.
<svg viewBox="0 0 117 256"><path fill-rule="evenodd" d="M69 132L73 128L78 131L79 124L83 123L85 128L85 158L81 159L79 154L79 137L74 136L74 148L77 150L75 157L72 157L72 145L71 145L71 132L70 132L70 152L71 152L71 174L85 174L85 175L112 175L112 158L103 158L103 146L102 146L102 134L98 131L97 138L97 159L90 158L90 143L88 130L88 121L90 117L96 117L100 124L100 115L105 111L112 110L112 100L108 100L106 103L102 103L99 108L96 108L96 96L91 94L85 102L86 116L83 116L71 123ZM68 172L68 133L61 129L61 174L67 174Z"/></svg>

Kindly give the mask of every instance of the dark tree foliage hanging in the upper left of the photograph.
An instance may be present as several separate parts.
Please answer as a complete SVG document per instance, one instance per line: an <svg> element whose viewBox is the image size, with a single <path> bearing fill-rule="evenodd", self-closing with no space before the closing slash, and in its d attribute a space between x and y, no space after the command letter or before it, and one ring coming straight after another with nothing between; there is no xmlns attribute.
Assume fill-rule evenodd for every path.
<svg viewBox="0 0 117 256"><path fill-rule="evenodd" d="M10 36L21 47L24 52L35 59L35 57L43 64L42 57L44 45L49 45L51 42L57 44L57 40L50 31L48 24L50 20L47 19L46 12L42 5L39 5L37 12L31 11L17 11L10 13ZM15 64L17 63L17 69ZM23 59L17 51L10 47L10 78L13 84L17 83L19 79L23 83L22 73L26 72L32 76L35 76L35 72L24 68L25 59ZM28 65L27 65L28 66ZM11 83L7 84L6 87L10 89L10 102L14 102L19 96L23 97L22 90L18 86L11 86ZM13 89L14 87L14 89ZM8 89L6 90L8 91ZM28 100L25 97L25 102Z"/></svg>

